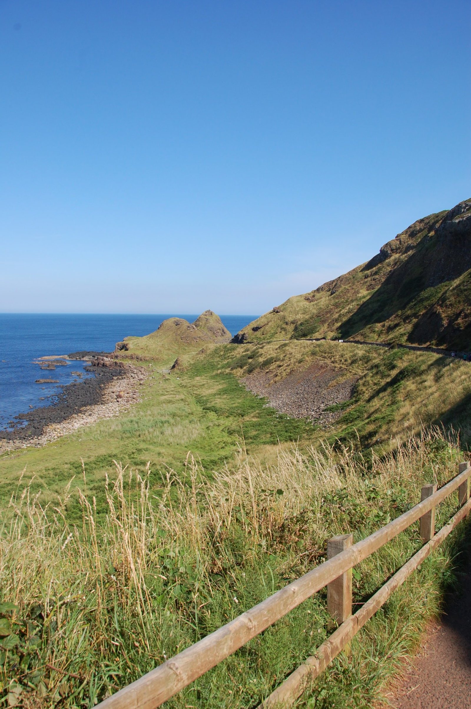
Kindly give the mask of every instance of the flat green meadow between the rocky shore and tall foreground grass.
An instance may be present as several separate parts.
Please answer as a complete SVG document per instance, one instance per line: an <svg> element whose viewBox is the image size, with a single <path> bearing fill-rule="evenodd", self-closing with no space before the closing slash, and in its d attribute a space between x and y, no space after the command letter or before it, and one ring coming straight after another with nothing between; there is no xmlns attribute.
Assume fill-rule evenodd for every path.
<svg viewBox="0 0 471 709"><path fill-rule="evenodd" d="M140 350L142 352L142 350ZM119 418L102 420L42 448L17 450L0 457L0 500L11 495L26 466L35 475L33 489L60 491L86 463L91 489L100 498L101 482L113 460L143 470L151 462L157 475L171 467L181 471L191 450L208 474L234 457L239 445L252 451L278 440L310 440L312 425L280 416L239 385L231 372L210 364L191 372L162 374L166 354L157 362L140 362L149 377L141 387L142 401ZM200 355L204 362L203 355ZM161 365L164 364L164 367ZM157 482L156 482L157 484Z"/></svg>

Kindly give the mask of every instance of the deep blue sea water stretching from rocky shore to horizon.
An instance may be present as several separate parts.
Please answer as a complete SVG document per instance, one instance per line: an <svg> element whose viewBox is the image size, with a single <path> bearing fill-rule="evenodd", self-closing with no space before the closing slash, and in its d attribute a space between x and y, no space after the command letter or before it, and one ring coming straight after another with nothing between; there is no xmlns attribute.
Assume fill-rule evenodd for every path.
<svg viewBox="0 0 471 709"><path fill-rule="evenodd" d="M29 407L47 406L62 384L84 372L84 362L42 370L35 359L80 350L110 352L127 335L148 335L171 315L53 315L0 313L0 429ZM192 322L195 315L178 315ZM232 335L257 316L221 316ZM35 384L58 379L58 384Z"/></svg>

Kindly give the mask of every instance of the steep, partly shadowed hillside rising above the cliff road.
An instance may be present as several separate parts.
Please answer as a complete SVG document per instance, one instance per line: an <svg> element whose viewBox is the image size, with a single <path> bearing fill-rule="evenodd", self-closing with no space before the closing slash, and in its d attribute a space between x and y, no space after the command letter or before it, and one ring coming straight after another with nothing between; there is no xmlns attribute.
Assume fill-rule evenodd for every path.
<svg viewBox="0 0 471 709"><path fill-rule="evenodd" d="M294 296L235 342L334 337L471 349L471 200L414 222L378 255Z"/></svg>

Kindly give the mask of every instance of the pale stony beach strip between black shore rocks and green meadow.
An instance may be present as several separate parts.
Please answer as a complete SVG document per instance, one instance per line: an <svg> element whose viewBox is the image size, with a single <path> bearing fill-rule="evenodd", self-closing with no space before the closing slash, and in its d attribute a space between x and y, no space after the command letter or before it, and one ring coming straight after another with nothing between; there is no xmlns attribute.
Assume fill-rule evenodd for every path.
<svg viewBox="0 0 471 709"><path fill-rule="evenodd" d="M80 354L78 357L76 355ZM0 431L0 453L28 446L41 447L47 442L73 432L102 418L112 418L140 401L139 389L146 369L122 362L115 355L80 352L69 359L89 359L85 369L93 372L84 381L62 387L50 406L33 408L16 416L13 430ZM24 425L24 422L26 424Z"/></svg>

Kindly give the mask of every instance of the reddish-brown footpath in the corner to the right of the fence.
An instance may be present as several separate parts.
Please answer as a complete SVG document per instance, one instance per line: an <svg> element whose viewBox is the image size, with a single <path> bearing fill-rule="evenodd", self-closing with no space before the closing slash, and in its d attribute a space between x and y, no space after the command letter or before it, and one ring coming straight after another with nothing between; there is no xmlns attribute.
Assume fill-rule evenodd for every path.
<svg viewBox="0 0 471 709"><path fill-rule="evenodd" d="M395 709L471 709L471 553L459 591L388 699Z"/></svg>

